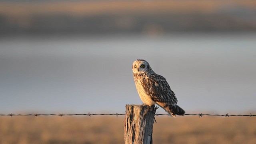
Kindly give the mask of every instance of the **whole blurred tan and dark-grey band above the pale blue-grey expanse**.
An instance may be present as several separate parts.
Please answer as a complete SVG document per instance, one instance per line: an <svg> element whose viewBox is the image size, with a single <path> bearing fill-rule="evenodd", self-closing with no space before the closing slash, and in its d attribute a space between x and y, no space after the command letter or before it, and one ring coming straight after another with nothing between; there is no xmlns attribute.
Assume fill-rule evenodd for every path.
<svg viewBox="0 0 256 144"><path fill-rule="evenodd" d="M254 32L256 0L0 2L0 35Z"/></svg>

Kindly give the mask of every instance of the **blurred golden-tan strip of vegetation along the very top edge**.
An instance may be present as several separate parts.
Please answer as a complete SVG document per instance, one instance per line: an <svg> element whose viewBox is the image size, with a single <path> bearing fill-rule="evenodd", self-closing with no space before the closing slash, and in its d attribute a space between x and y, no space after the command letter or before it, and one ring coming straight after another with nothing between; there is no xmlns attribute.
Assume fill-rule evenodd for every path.
<svg viewBox="0 0 256 144"><path fill-rule="evenodd" d="M66 13L75 16L115 13L212 13L222 6L256 8L255 0L157 0L157 1L72 1L72 2L0 2L0 13L7 16Z"/></svg>

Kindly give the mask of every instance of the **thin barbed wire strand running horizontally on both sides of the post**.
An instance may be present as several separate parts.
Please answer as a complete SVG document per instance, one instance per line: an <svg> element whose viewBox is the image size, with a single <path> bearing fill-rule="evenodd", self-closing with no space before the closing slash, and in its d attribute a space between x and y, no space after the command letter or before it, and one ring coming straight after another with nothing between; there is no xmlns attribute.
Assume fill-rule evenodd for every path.
<svg viewBox="0 0 256 144"><path fill-rule="evenodd" d="M0 114L0 116L110 116L110 115L115 115L116 117L120 116L120 115L125 115L125 114L90 114L90 112L88 114ZM168 114L155 114L155 116L169 116ZM252 115L252 113L250 114L184 114L184 116L225 116L225 117L229 117L229 116L256 116L256 115Z"/></svg>

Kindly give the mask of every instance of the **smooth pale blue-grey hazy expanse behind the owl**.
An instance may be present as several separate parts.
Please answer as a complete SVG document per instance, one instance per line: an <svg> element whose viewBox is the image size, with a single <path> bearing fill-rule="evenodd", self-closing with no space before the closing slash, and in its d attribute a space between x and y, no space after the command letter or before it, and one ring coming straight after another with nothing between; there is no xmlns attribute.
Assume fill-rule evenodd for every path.
<svg viewBox="0 0 256 144"><path fill-rule="evenodd" d="M256 34L176 34L2 38L0 112L124 113L142 103L136 59L167 79L187 113L256 110Z"/></svg>

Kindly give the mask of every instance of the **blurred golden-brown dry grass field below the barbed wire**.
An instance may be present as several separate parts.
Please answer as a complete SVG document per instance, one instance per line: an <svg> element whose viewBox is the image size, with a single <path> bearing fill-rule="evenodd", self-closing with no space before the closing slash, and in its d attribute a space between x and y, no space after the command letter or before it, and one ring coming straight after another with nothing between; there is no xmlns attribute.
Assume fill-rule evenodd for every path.
<svg viewBox="0 0 256 144"><path fill-rule="evenodd" d="M255 117L156 116L154 144L255 144ZM0 144L123 144L124 116L1 116Z"/></svg>

